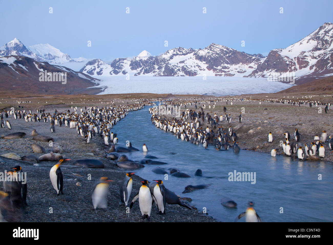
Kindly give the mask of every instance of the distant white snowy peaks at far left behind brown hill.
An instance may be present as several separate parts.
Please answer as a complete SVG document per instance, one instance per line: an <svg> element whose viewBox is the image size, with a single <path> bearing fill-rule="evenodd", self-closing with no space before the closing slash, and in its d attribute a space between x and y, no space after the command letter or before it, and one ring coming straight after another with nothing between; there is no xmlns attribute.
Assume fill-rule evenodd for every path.
<svg viewBox="0 0 333 245"><path fill-rule="evenodd" d="M68 54L64 54L59 49L50 44L36 44L26 47L20 40L14 40L0 47L0 57L10 55L21 55L32 58L36 61L63 64L67 62L86 62L85 58L72 59Z"/></svg>

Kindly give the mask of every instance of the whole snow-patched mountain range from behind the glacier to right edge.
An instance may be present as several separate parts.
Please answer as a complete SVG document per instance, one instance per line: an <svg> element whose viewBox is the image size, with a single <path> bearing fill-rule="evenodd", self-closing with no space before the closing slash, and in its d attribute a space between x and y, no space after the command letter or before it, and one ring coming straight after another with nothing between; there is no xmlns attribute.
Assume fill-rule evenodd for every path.
<svg viewBox="0 0 333 245"><path fill-rule="evenodd" d="M270 51L267 57L247 54L215 43L204 49L183 47L151 56L144 50L134 58L118 58L111 65L100 59L80 71L89 75L268 77L271 72L295 72L297 78L333 74L333 24L325 23L297 43Z"/></svg>

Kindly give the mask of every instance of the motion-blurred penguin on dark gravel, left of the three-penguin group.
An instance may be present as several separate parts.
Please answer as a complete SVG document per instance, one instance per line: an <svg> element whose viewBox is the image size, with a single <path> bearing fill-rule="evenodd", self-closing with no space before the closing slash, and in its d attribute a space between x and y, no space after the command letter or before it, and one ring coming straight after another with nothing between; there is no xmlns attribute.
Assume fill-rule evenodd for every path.
<svg viewBox="0 0 333 245"><path fill-rule="evenodd" d="M97 208L107 208L108 206L108 189L109 183L113 182L113 180L109 180L108 177L101 177L97 182L96 187L91 196L94 209Z"/></svg>

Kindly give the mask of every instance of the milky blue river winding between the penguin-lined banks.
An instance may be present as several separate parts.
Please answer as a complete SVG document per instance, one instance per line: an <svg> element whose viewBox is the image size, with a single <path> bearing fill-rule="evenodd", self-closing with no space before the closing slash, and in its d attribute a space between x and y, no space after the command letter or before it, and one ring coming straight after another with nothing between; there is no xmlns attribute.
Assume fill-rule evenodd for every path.
<svg viewBox="0 0 333 245"><path fill-rule="evenodd" d="M204 150L202 145L182 141L172 133L157 128L151 123L148 108L130 112L113 129L119 138L117 146L125 146L126 141L130 140L132 146L140 150L125 153L130 159L140 161L144 158L142 145L145 143L148 154L158 157L154 160L168 163L145 165L134 171L136 175L148 181L162 179L166 188L181 197L190 197L191 205L198 211L206 209L208 215L218 221L233 222L246 210L248 201L254 202L254 209L263 222L333 221L331 163L298 161L286 156L271 157L267 153L246 150L237 154L232 149L216 151L209 147L209 150ZM170 152L177 154L172 155ZM151 171L157 166L177 168L191 178L169 174L165 180L163 174ZM197 169L202 170L202 177L194 175ZM250 181L229 181L228 174L234 170L255 172L255 184ZM318 174L322 175L322 180L318 180ZM181 193L185 186L198 184L210 186L207 189ZM222 198L231 198L237 203L237 207L222 206ZM244 218L238 222L244 222Z"/></svg>

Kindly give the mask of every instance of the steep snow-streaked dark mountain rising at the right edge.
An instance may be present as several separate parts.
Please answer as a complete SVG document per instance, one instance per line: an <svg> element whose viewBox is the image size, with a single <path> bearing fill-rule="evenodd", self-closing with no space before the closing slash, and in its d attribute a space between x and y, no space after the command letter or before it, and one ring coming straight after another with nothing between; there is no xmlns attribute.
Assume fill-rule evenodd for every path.
<svg viewBox="0 0 333 245"><path fill-rule="evenodd" d="M333 74L333 24L324 23L311 34L284 49L273 49L249 77L271 72L294 72L296 77Z"/></svg>

